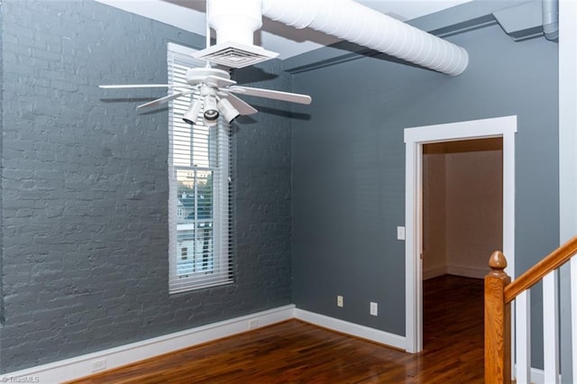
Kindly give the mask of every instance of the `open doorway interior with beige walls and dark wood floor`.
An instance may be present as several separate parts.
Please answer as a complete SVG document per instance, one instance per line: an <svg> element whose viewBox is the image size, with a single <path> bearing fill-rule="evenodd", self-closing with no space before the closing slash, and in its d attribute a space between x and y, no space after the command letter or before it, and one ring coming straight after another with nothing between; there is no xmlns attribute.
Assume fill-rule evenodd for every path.
<svg viewBox="0 0 577 384"><path fill-rule="evenodd" d="M483 278L503 246L502 137L423 145L423 347L483 344Z"/></svg>

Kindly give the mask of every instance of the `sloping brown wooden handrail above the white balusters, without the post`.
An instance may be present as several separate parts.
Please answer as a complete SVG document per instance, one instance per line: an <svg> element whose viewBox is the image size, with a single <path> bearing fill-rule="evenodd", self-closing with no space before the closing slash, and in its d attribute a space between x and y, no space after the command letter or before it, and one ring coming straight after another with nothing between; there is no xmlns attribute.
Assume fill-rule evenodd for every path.
<svg viewBox="0 0 577 384"><path fill-rule="evenodd" d="M577 236L574 236L561 247L549 253L545 259L537 262L533 267L526 270L521 276L505 288L505 302L510 303L521 292L533 287L541 279L545 278L552 270L561 267L565 262L577 253Z"/></svg>

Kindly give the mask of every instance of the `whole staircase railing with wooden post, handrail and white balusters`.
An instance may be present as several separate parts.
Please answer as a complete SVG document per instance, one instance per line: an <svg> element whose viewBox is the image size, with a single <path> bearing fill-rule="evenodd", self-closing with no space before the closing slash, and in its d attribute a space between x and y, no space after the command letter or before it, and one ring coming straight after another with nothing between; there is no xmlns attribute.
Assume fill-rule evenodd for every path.
<svg viewBox="0 0 577 384"><path fill-rule="evenodd" d="M511 382L511 302L513 300L517 300L516 325L518 325L516 326L516 379L519 384L531 382L530 343L527 343L530 334L528 313L530 291L528 289L542 279L544 280L544 330L550 329L547 331L550 334L544 334L544 379L547 383L558 382L557 273L558 269L576 253L577 236L551 252L513 282L505 272L507 260L503 253L495 251L490 256L491 271L485 277L485 383ZM572 284L575 283L577 281L572 281ZM520 311L519 308L521 308ZM550 313L551 308L555 309L555 314ZM551 341L550 338L554 340Z"/></svg>

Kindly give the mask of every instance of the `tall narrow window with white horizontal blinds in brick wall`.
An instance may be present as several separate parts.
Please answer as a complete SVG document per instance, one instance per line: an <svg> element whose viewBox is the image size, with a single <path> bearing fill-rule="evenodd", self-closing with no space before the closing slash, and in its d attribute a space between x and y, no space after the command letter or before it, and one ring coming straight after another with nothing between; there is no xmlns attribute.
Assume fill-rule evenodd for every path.
<svg viewBox="0 0 577 384"><path fill-rule="evenodd" d="M169 43L169 84L187 86L191 67L204 67L186 47ZM233 281L230 251L229 125L214 127L182 114L198 95L169 105L169 291L178 293ZM202 114L202 110L200 114Z"/></svg>

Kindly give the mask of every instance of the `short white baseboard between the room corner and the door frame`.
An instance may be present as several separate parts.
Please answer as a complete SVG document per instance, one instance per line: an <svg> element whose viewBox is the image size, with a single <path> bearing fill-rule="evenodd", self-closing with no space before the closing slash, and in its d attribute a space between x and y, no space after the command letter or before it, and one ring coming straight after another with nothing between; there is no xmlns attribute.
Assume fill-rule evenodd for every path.
<svg viewBox="0 0 577 384"><path fill-rule="evenodd" d="M389 347L405 350L407 343L405 336L398 334L389 334L388 332L380 331L375 328L370 328L364 325L349 323L343 320L335 319L325 315L319 315L314 312L308 312L303 309L295 309L295 318L305 321L310 324L322 326L333 331L341 332L343 334L351 334L362 339L370 340L374 343L380 343Z"/></svg>

